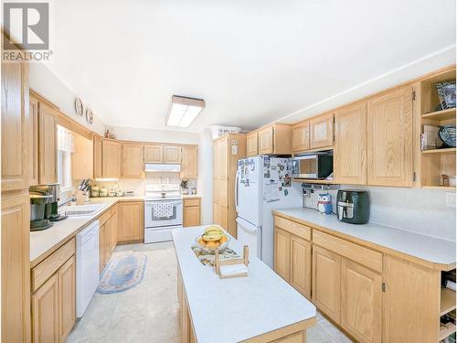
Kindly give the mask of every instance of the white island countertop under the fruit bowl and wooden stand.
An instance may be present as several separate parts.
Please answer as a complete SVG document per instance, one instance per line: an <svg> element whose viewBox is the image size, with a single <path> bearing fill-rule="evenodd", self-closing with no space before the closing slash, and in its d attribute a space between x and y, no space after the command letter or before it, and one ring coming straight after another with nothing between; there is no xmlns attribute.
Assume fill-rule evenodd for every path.
<svg viewBox="0 0 457 343"><path fill-rule="evenodd" d="M176 256L199 343L233 343L315 316L315 306L257 257L247 277L220 279L191 250L207 226L174 230ZM242 255L231 239L230 248Z"/></svg>

